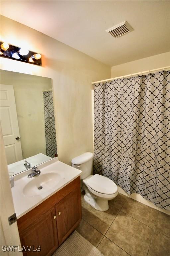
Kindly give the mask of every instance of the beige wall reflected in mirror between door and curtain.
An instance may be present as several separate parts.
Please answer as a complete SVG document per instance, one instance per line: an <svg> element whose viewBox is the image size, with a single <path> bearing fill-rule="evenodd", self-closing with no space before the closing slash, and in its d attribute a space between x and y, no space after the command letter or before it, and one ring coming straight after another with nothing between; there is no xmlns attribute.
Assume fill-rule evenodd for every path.
<svg viewBox="0 0 170 256"><path fill-rule="evenodd" d="M51 79L1 70L1 84L13 85L23 159L46 155L43 90Z"/></svg>

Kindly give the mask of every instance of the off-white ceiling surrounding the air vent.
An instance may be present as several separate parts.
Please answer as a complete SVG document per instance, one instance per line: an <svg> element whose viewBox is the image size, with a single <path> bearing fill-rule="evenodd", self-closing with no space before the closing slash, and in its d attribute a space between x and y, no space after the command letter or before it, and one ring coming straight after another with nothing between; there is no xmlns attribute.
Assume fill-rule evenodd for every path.
<svg viewBox="0 0 170 256"><path fill-rule="evenodd" d="M1 14L110 66L170 50L170 1L1 1ZM134 31L105 31L125 20Z"/></svg>

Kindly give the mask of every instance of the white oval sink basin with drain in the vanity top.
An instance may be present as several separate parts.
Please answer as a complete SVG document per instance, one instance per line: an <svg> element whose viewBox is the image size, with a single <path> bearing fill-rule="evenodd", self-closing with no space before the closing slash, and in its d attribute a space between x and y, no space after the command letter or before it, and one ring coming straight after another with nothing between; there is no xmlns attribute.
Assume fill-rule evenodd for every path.
<svg viewBox="0 0 170 256"><path fill-rule="evenodd" d="M50 191L51 188L56 187L60 180L61 175L55 172L34 176L33 178L30 178L30 181L24 186L23 194L25 196L41 195Z"/></svg>

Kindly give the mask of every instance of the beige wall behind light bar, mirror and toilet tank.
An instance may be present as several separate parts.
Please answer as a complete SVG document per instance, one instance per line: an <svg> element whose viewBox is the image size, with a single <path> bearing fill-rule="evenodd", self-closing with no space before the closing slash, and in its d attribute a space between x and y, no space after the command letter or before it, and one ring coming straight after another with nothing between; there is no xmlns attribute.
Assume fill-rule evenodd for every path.
<svg viewBox="0 0 170 256"><path fill-rule="evenodd" d="M1 58L1 69L52 78L59 160L93 152L91 82L111 77L111 67L4 16L1 41L42 54L42 67Z"/></svg>

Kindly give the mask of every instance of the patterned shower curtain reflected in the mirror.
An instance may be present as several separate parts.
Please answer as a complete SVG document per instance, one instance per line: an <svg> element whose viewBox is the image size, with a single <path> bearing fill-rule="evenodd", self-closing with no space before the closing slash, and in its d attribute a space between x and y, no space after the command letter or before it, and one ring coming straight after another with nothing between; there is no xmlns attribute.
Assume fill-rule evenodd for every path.
<svg viewBox="0 0 170 256"><path fill-rule="evenodd" d="M45 117L45 140L46 155L55 157L57 154L57 142L55 133L55 119L52 91L44 91L44 117Z"/></svg>

